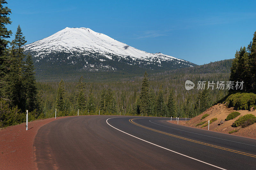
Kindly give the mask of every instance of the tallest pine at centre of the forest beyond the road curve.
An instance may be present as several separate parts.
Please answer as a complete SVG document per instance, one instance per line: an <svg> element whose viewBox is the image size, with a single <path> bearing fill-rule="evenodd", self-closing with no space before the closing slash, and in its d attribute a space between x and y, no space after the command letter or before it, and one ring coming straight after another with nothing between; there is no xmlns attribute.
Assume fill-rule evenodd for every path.
<svg viewBox="0 0 256 170"><path fill-rule="evenodd" d="M141 85L141 92L140 92L140 113L142 115L148 116L149 113L149 81L148 81L148 74L145 72L144 78Z"/></svg>

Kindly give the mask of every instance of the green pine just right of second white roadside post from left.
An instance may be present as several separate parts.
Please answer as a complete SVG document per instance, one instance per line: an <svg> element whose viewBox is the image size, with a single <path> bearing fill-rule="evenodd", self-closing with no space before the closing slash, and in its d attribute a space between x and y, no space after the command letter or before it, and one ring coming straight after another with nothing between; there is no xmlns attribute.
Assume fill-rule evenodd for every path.
<svg viewBox="0 0 256 170"><path fill-rule="evenodd" d="M58 90L57 90L57 96L56 96L56 109L60 110L61 112L65 111L65 84L64 81L61 79L59 86L58 86Z"/></svg>

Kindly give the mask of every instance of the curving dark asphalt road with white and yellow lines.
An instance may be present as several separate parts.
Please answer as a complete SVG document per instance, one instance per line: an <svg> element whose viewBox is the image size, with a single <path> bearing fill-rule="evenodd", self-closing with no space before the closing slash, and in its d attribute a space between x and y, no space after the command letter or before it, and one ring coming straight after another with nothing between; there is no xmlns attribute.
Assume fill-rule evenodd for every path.
<svg viewBox="0 0 256 170"><path fill-rule="evenodd" d="M256 140L169 118L78 116L42 126L38 169L256 169ZM180 119L182 120L182 119Z"/></svg>

